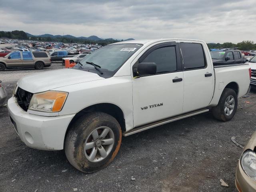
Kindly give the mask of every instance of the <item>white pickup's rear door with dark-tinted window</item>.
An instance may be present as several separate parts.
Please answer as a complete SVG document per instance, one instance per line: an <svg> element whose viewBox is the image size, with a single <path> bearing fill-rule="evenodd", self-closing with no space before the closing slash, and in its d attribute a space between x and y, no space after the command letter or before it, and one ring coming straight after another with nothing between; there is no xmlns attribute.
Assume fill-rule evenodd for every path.
<svg viewBox="0 0 256 192"><path fill-rule="evenodd" d="M184 73L183 113L205 108L212 99L214 71L205 44L196 41L179 43Z"/></svg>

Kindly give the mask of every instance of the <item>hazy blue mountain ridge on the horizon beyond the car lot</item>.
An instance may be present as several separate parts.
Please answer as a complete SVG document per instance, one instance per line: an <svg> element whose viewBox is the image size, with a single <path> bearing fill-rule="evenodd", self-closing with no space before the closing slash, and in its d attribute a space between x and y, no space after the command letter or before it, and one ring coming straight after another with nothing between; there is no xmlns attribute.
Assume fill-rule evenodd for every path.
<svg viewBox="0 0 256 192"><path fill-rule="evenodd" d="M51 38L60 38L62 37L62 35L52 35L52 34L42 34L42 35L32 35L30 33L26 33L28 37L51 37ZM63 35L63 37L65 38L79 38L79 39L87 39L87 40L94 40L94 41L99 41L99 40L116 40L114 38L99 38L98 36L95 36L95 35L92 35L92 36L89 36L89 37L84 37L84 36L81 36L81 37L75 37L75 36L72 36L72 35ZM128 40L134 40L133 38L129 38L129 39L126 39L124 41L128 41Z"/></svg>

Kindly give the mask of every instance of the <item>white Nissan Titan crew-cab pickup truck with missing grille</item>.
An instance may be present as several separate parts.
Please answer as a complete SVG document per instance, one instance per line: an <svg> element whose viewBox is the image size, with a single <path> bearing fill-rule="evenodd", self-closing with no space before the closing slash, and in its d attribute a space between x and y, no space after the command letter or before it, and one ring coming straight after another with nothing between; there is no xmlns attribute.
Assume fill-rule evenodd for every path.
<svg viewBox="0 0 256 192"><path fill-rule="evenodd" d="M213 66L204 41L132 40L74 68L21 78L8 111L27 146L64 149L75 168L95 172L112 162L122 136L209 109L231 120L249 84L248 64Z"/></svg>

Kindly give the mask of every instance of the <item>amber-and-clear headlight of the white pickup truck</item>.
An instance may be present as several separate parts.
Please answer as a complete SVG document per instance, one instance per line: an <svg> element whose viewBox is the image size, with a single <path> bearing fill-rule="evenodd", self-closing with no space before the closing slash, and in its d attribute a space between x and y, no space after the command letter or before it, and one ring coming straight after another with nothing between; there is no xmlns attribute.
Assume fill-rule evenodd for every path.
<svg viewBox="0 0 256 192"><path fill-rule="evenodd" d="M67 96L68 93L58 91L36 93L32 96L28 109L43 112L59 112L62 110Z"/></svg>

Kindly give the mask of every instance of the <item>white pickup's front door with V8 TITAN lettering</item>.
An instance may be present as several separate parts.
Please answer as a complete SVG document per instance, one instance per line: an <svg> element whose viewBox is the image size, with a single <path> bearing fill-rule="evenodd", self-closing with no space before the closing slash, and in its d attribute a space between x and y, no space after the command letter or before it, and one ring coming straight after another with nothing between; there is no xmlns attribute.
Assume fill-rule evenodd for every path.
<svg viewBox="0 0 256 192"><path fill-rule="evenodd" d="M178 50L176 42L158 43L139 58L139 63L156 63L156 74L132 78L134 127L182 113L184 81Z"/></svg>

